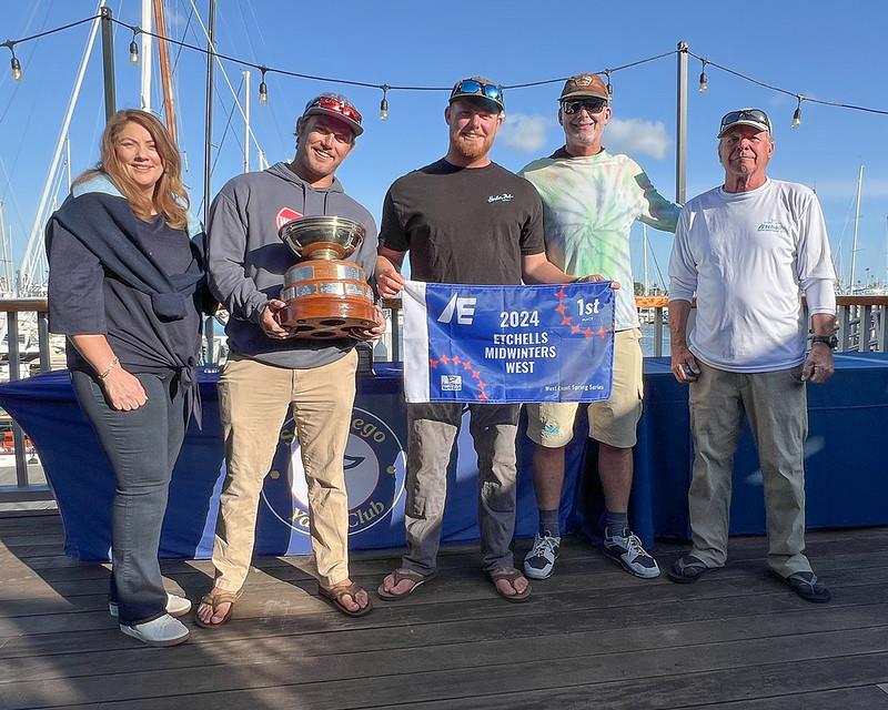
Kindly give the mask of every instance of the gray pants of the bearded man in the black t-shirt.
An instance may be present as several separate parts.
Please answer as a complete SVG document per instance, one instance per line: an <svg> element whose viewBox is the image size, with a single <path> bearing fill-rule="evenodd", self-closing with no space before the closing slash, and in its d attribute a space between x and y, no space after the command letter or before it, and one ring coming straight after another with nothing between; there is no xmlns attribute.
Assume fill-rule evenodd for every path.
<svg viewBox="0 0 888 710"><path fill-rule="evenodd" d="M468 405L470 433L478 456L478 526L484 569L513 567L515 532L515 435L521 405ZM462 404L407 405L407 552L402 566L435 570L447 465L463 415Z"/></svg>

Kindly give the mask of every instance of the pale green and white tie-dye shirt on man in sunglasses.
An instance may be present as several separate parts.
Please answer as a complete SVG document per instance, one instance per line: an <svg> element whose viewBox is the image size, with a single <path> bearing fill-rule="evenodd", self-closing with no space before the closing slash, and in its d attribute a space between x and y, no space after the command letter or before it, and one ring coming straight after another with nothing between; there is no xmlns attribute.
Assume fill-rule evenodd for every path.
<svg viewBox="0 0 888 710"><path fill-rule="evenodd" d="M660 195L627 155L602 151L574 158L562 148L526 165L518 174L543 199L548 260L575 276L601 274L619 282L615 326L638 327L629 234L640 220L675 232L680 207Z"/></svg>

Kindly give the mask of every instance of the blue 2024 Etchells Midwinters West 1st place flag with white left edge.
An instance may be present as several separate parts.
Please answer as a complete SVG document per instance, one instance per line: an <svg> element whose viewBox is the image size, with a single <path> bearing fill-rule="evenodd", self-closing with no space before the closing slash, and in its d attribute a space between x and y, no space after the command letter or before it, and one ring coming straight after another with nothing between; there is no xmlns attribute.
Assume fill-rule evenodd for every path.
<svg viewBox="0 0 888 710"><path fill-rule="evenodd" d="M594 402L610 397L609 282L404 288L407 402Z"/></svg>

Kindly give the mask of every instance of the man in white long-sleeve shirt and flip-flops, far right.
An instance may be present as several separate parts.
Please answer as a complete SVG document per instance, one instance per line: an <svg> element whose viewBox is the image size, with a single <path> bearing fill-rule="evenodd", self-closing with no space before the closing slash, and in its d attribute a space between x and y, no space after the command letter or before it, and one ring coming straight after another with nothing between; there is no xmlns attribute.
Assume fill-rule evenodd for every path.
<svg viewBox="0 0 888 710"><path fill-rule="evenodd" d="M722 119L725 184L687 203L669 262L672 371L690 384L696 452L689 554L669 570L692 582L724 567L734 453L744 413L765 485L768 565L808 601L829 601L805 556L806 381L833 375L835 272L817 196L771 180L770 120L759 109ZM687 333L690 302L697 314ZM810 352L806 355L810 313Z"/></svg>

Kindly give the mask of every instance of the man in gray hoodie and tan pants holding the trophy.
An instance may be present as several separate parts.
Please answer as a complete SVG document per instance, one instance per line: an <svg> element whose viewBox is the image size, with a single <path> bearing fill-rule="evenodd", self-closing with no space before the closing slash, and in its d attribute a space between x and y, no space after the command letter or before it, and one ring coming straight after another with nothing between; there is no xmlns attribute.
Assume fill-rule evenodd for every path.
<svg viewBox="0 0 888 710"><path fill-rule="evenodd" d="M231 315L225 327L231 355L219 382L226 475L213 546L214 585L201 599L195 619L202 627L226 622L241 595L253 552L260 493L291 403L309 487L320 594L349 616L371 610L367 592L349 578L343 473L349 433L342 423L351 417L354 402L354 346L377 337L385 322L372 305L372 295L363 318L351 327L335 317L306 321L305 308L295 300L297 290L309 296L305 303L312 291L339 290L360 298L369 293L366 284L355 280L373 273L376 226L335 176L362 132L361 114L345 97L324 93L312 99L296 122L293 161L232 179L210 209L209 280ZM315 252L321 258L312 262L347 256L355 263L327 264L334 272L345 268L350 281L315 283L304 262L300 273L307 280L295 284L300 275L293 276L294 252L309 256L303 253L304 235L300 241L294 236L299 230L281 229L293 221L299 227L303 217L319 229L327 223L331 240L343 224L350 227L349 248L331 244L332 251ZM282 286L287 286L284 293ZM319 325L326 322L333 325L326 329Z"/></svg>

